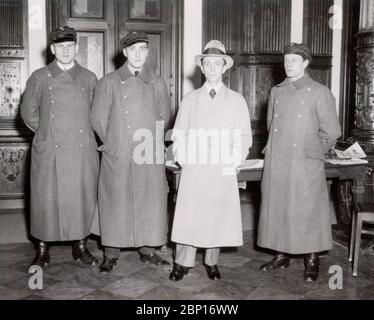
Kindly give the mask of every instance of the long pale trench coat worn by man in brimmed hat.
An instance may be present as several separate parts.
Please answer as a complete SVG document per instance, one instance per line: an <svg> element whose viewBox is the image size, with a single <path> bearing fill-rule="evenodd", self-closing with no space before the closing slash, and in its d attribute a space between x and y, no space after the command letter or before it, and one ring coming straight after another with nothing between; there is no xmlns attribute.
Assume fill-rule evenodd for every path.
<svg viewBox="0 0 374 320"><path fill-rule="evenodd" d="M240 130L239 136L233 134L235 129ZM201 150L206 151L206 158L197 151L196 156L188 160L196 130L208 135L217 132L220 135L225 130L230 132L230 139L220 145L219 151L224 152L227 147L231 155L236 149L239 159L230 163L219 157L217 161L212 147L217 147L220 142L209 137L196 140L198 145L202 145ZM238 183L232 169L246 158L252 145L251 122L245 99L226 86L213 100L205 85L192 91L182 101L173 138L175 158L182 165L182 174L172 241L202 248L242 245ZM219 141L225 141L224 135ZM192 143L190 147L184 149L189 143Z"/></svg>

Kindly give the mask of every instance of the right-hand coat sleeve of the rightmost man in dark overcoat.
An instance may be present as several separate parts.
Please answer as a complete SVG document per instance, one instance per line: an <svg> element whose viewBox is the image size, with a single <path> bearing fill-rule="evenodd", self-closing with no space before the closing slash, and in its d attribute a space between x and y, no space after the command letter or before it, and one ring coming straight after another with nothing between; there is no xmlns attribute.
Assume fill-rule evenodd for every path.
<svg viewBox="0 0 374 320"><path fill-rule="evenodd" d="M319 137L325 153L335 144L341 135L341 128L336 113L335 98L329 89L323 88L317 100Z"/></svg>

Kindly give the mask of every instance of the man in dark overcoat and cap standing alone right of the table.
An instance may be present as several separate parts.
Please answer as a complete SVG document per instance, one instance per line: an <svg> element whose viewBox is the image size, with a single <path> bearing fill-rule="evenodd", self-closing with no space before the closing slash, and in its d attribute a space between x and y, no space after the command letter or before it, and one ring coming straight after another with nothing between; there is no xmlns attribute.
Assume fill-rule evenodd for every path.
<svg viewBox="0 0 374 320"><path fill-rule="evenodd" d="M304 254L304 280L316 281L318 252L332 247L324 154L341 130L334 96L305 73L310 49L291 43L283 56L287 78L269 100L257 243L275 251L262 271L287 268L287 254Z"/></svg>

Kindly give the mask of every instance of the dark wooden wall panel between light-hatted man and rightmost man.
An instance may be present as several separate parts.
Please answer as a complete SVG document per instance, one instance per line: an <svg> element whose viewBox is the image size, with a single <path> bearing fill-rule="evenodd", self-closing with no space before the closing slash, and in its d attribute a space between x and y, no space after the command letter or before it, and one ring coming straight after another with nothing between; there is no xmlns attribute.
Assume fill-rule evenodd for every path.
<svg viewBox="0 0 374 320"><path fill-rule="evenodd" d="M284 78L282 49L290 41L291 0L204 0L203 39L223 42L234 59L224 76L247 101L254 144L250 158L261 157L272 86Z"/></svg>

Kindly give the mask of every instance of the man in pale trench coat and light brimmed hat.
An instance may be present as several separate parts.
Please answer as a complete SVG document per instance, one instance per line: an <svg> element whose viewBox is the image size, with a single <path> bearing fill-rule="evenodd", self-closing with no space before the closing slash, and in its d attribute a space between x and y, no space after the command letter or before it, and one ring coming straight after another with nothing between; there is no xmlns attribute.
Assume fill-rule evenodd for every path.
<svg viewBox="0 0 374 320"><path fill-rule="evenodd" d="M194 267L198 247L206 248L208 277L220 279L220 247L243 244L236 167L252 145L248 106L222 82L233 60L220 41L210 41L195 62L206 82L183 98L173 129L182 175L171 237L177 243L172 281Z"/></svg>

